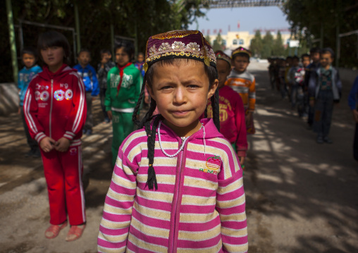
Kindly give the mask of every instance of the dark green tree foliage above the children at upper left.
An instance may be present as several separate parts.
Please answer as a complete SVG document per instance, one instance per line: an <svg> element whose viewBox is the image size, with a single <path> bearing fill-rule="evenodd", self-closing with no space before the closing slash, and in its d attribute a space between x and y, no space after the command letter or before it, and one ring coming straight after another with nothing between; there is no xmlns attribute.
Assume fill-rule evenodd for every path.
<svg viewBox="0 0 358 253"><path fill-rule="evenodd" d="M75 27L74 4L76 0L13 0L13 20L29 20L49 25ZM204 16L199 8L200 0L103 0L79 1L81 46L92 52L92 66L99 62L99 51L111 48L110 25L114 34L135 38L137 35L138 50L144 52L149 36L168 30L185 29L198 17ZM0 8L0 53L3 61L0 66L0 82L12 80L10 46L8 42L8 23L5 4ZM204 6L205 7L205 6ZM36 46L39 33L49 30L23 24L25 46ZM62 32L73 48L73 35ZM137 33L137 34L136 34ZM18 40L18 29L16 29ZM18 43L18 56L20 56ZM19 61L21 68L22 64Z"/></svg>

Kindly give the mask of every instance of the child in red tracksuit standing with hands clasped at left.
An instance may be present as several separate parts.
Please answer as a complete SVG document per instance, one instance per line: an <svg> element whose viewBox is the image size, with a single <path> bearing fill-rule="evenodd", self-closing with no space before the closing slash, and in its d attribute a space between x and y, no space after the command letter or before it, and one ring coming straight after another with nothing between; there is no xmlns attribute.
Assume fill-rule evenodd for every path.
<svg viewBox="0 0 358 253"><path fill-rule="evenodd" d="M30 82L24 111L30 135L41 150L47 182L52 239L67 226L66 241L77 240L85 229L85 197L82 187L81 136L85 124L85 86L70 68L70 45L55 31L39 35L37 43L44 70Z"/></svg>

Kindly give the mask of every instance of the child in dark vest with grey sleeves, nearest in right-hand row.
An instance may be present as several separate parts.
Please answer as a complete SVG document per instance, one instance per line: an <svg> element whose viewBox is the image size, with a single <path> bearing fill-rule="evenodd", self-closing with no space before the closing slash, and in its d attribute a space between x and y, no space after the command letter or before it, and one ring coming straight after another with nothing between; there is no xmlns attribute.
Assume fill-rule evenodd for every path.
<svg viewBox="0 0 358 253"><path fill-rule="evenodd" d="M321 51L321 66L309 78L309 99L314 106L314 131L316 142L331 144L328 137L331 128L333 104L338 104L342 90L342 82L338 70L331 65L334 52L327 47Z"/></svg>

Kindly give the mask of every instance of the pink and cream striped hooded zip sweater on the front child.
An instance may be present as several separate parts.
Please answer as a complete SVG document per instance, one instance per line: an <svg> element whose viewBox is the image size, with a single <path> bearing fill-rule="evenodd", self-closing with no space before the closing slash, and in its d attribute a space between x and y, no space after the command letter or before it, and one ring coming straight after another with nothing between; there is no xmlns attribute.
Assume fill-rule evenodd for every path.
<svg viewBox="0 0 358 253"><path fill-rule="evenodd" d="M99 252L247 252L242 169L212 119L202 123L173 158L163 154L156 135L156 191L146 185L145 130L125 139L106 195ZM168 154L181 142L161 125Z"/></svg>

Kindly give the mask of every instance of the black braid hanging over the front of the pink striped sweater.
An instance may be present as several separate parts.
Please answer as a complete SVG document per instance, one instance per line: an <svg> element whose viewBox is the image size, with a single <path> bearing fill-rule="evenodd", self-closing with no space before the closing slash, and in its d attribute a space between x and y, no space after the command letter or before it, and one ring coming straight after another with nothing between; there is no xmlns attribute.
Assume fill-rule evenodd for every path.
<svg viewBox="0 0 358 253"><path fill-rule="evenodd" d="M155 190L158 190L158 184L156 182L156 175L155 175L153 163L154 163L156 128L158 128L159 121L161 121L161 120L162 120L162 116L160 114L154 118L152 130L150 130L150 135L148 135L149 131L147 131L147 128L146 128L146 132L148 135L148 139L147 139L148 155L147 155L147 157L149 160L147 185L148 185L149 190L153 190L153 187L155 187ZM149 121L147 121L147 122L149 123ZM150 127L149 127L149 129L150 129Z"/></svg>

